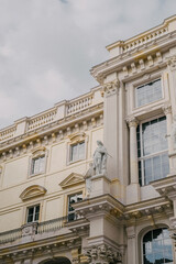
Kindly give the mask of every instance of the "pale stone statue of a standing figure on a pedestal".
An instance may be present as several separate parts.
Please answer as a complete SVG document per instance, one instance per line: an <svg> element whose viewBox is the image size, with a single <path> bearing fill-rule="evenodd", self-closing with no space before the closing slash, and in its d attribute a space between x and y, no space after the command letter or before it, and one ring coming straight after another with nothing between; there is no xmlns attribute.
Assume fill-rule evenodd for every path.
<svg viewBox="0 0 176 264"><path fill-rule="evenodd" d="M101 141L97 141L97 145L98 146L92 156L94 157L92 167L94 167L96 175L98 175L98 174L105 175L107 173L108 152Z"/></svg>

